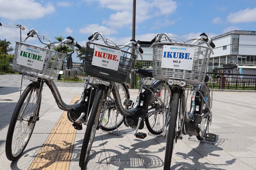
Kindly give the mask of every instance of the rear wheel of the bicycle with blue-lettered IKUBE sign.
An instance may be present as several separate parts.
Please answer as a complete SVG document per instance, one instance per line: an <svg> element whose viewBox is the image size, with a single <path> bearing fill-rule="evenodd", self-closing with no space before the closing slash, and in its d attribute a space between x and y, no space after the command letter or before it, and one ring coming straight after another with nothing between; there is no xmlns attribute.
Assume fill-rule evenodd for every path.
<svg viewBox="0 0 256 170"><path fill-rule="evenodd" d="M207 87L207 88L206 88ZM211 98L210 98L210 93L209 93L209 88L208 86L205 85L205 88L207 90L206 95L204 96L205 100L207 100L207 105L210 106L211 104ZM204 94L205 94L204 93ZM202 97L202 96L201 96ZM201 99L202 100L202 99ZM207 107L206 103L204 102L204 104L202 105L202 114L205 114L207 112L209 112L209 109ZM210 113L209 113L210 114ZM202 121L201 121L201 127L198 128L198 135L196 136L196 138L201 141L205 138L205 133L208 129L208 126L209 126L209 122L210 122L210 115L207 115L205 117L202 118Z"/></svg>

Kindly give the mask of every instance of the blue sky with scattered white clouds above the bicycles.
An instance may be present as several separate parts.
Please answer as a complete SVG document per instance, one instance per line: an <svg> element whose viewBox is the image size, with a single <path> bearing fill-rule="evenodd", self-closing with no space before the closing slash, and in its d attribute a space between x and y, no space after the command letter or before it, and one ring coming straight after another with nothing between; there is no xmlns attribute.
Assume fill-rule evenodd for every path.
<svg viewBox="0 0 256 170"><path fill-rule="evenodd" d="M131 39L133 0L0 0L2 25L21 24L24 40L35 28L51 40L72 36L85 45L99 31L117 44ZM256 31L256 0L137 0L136 40L166 32L184 40L205 32ZM0 27L0 39L19 41L19 29ZM27 43L39 45L30 38ZM74 62L79 62L73 58Z"/></svg>

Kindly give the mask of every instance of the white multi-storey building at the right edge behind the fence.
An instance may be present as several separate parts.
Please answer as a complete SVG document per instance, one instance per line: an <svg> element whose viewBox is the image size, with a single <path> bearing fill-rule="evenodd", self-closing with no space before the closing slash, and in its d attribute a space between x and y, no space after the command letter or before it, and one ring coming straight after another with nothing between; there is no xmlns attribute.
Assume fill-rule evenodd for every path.
<svg viewBox="0 0 256 170"><path fill-rule="evenodd" d="M212 38L215 43L208 72L224 70L227 73L256 74L255 31L231 31Z"/></svg>

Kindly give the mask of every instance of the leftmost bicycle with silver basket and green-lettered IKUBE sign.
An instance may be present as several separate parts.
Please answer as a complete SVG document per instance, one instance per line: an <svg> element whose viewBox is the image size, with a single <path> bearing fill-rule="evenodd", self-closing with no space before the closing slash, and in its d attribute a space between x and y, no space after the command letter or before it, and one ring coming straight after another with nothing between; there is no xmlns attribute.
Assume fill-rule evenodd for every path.
<svg viewBox="0 0 256 170"><path fill-rule="evenodd" d="M25 88L20 96L9 124L5 150L6 157L10 161L15 161L22 155L33 133L35 123L39 121L41 93L44 83L50 88L58 107L68 111L67 117L73 122L73 126L77 130L82 130L82 123L86 122L92 105L90 97L93 96L93 90L88 87L89 79L85 81L81 99L73 105L63 102L53 81L59 74L66 59L66 54L59 53L51 48L54 49L61 44L67 44L74 52L76 51L75 46L79 49L81 46L72 37L67 37L62 42L51 42L46 37L38 34L35 29L28 32L28 37L25 40L29 37L38 38L45 46L42 48L16 42L13 69L22 73L22 78L30 80L32 83Z"/></svg>

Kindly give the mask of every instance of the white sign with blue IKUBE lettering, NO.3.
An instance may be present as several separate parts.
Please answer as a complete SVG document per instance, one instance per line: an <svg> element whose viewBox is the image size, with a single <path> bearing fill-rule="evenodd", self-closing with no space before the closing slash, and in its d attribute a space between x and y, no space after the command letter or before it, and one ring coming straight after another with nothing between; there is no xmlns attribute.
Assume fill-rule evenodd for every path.
<svg viewBox="0 0 256 170"><path fill-rule="evenodd" d="M192 70L194 47L164 45L161 68Z"/></svg>

